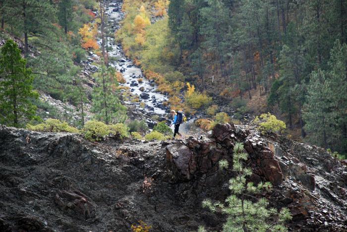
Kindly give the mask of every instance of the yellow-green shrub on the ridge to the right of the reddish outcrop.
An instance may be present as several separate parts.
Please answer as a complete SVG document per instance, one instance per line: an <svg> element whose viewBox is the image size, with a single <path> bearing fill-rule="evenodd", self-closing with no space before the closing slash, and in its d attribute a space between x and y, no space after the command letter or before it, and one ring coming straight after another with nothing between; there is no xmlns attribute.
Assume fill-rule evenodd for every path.
<svg viewBox="0 0 347 232"><path fill-rule="evenodd" d="M262 133L268 132L280 132L282 133L286 129L286 123L276 118L276 116L270 113L256 116L254 123L259 125L259 130Z"/></svg>

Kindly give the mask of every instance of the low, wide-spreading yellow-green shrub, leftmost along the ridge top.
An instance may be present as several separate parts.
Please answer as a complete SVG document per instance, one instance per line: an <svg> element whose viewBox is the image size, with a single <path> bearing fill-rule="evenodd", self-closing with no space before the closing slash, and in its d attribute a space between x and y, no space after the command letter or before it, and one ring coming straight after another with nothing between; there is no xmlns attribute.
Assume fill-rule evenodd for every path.
<svg viewBox="0 0 347 232"><path fill-rule="evenodd" d="M75 127L69 126L66 122L59 119L48 118L44 123L37 125L27 124L27 129L35 131L50 131L50 132L71 132L78 133L79 130Z"/></svg>

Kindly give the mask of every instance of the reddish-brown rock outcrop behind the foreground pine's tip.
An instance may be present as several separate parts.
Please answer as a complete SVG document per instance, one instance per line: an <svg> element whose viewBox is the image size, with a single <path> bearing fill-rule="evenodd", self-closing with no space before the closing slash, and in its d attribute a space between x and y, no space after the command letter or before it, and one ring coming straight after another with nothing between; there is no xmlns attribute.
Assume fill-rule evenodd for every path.
<svg viewBox="0 0 347 232"><path fill-rule="evenodd" d="M218 161L232 157L231 149L238 141L235 130L233 124L217 124L212 134L214 139L189 138L186 145L181 142L169 145L166 148L169 167L185 181L192 179L194 174L217 172ZM246 139L244 145L254 176L257 176L254 182L261 179L274 185L281 184L283 174L274 153L264 143L252 138Z"/></svg>

